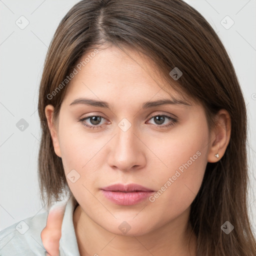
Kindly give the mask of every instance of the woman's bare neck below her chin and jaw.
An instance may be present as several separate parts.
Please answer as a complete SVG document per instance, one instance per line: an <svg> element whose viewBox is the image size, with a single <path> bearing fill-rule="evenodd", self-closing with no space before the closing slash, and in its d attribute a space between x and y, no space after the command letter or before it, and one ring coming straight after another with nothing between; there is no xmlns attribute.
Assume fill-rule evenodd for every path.
<svg viewBox="0 0 256 256"><path fill-rule="evenodd" d="M195 256L196 236L188 221L189 210L149 233L127 236L99 226L78 205L73 213L73 223L80 255Z"/></svg>

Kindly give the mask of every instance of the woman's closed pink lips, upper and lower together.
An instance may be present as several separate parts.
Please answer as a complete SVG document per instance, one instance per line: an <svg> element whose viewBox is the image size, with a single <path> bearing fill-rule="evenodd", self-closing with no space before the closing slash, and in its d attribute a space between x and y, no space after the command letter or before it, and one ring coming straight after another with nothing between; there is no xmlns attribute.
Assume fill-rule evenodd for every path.
<svg viewBox="0 0 256 256"><path fill-rule="evenodd" d="M139 184L113 184L102 187L101 192L110 201L119 205L132 205L145 200L154 190Z"/></svg>

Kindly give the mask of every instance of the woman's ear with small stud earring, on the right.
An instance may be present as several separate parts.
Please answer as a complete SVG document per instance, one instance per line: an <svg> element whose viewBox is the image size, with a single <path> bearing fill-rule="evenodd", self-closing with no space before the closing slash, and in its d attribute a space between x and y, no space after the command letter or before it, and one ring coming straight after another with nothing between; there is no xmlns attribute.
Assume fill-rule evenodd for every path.
<svg viewBox="0 0 256 256"><path fill-rule="evenodd" d="M210 132L208 162L218 161L225 153L231 133L230 115L225 109L220 109L215 116L215 127ZM215 155L218 154L218 157Z"/></svg>

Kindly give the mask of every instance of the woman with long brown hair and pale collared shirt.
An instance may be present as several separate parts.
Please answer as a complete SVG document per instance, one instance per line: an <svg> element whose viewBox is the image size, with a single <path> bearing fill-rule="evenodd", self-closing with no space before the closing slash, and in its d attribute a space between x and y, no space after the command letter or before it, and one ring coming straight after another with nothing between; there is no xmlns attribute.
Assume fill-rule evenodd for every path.
<svg viewBox="0 0 256 256"><path fill-rule="evenodd" d="M50 44L38 111L42 200L69 196L48 227L60 255L256 254L243 96L221 41L185 2L75 4ZM13 239L1 255L43 255L34 237L46 219L3 230Z"/></svg>

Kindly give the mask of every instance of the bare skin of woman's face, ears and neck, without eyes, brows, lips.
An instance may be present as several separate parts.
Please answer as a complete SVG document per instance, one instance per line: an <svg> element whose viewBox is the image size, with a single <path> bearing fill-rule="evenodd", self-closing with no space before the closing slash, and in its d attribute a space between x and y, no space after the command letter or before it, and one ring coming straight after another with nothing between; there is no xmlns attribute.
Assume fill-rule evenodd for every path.
<svg viewBox="0 0 256 256"><path fill-rule="evenodd" d="M79 203L73 223L80 255L195 255L196 237L188 221L190 204L200 188L207 161L215 162L224 154L230 137L229 114L221 109L216 127L209 131L203 107L189 98L189 105L142 109L145 101L171 99L170 94L183 98L164 84L149 59L126 50L132 58L109 46L81 68L68 85L56 123L53 106L45 107L54 150L62 158L65 174L75 169L80 175L74 183L67 178ZM81 97L106 101L111 109L70 105ZM165 117L157 123L152 117L159 115L176 122ZM97 125L91 118L79 121L88 116L103 118ZM118 126L123 118L131 124L127 131ZM92 129L84 123L101 126ZM172 125L164 127L169 123ZM219 158L214 156L217 152ZM137 183L157 191L185 163L189 166L179 171L153 202L145 199L130 206L117 205L101 193L100 188L115 183ZM55 236L50 233L50 221L43 235L57 240L59 232ZM118 228L123 221L130 226L127 233ZM55 248L53 244L49 249L56 253L58 244Z"/></svg>

